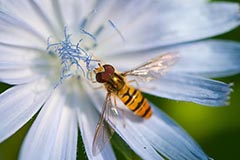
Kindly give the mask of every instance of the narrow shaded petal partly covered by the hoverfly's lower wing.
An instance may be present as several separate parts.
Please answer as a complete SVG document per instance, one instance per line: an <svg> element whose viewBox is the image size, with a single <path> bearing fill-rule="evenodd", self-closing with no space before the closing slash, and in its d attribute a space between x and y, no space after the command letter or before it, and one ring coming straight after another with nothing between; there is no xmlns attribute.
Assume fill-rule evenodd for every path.
<svg viewBox="0 0 240 160"><path fill-rule="evenodd" d="M92 142L99 119L99 113L89 101L89 97L84 93L75 94L75 105L80 106L77 109L79 127L86 149L88 159L92 160L114 160L116 159L110 144L106 144L103 151L97 156L92 154Z"/></svg>

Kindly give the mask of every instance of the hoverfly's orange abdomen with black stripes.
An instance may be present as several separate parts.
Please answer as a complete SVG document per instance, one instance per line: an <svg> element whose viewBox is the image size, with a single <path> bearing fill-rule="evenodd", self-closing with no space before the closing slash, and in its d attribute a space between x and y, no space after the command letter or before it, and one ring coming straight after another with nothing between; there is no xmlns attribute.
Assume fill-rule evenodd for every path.
<svg viewBox="0 0 240 160"><path fill-rule="evenodd" d="M143 118L151 117L152 109L146 98L142 96L139 90L125 84L118 92L118 96L121 101L136 115Z"/></svg>

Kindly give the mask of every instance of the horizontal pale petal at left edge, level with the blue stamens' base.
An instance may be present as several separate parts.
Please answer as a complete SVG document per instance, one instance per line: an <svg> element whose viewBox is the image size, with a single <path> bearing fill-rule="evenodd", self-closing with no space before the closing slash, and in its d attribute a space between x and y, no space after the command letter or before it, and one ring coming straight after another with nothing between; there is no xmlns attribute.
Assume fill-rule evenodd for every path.
<svg viewBox="0 0 240 160"><path fill-rule="evenodd" d="M8 84L23 84L52 75L54 69L43 51L25 47L0 44L0 81ZM49 56L49 57L47 57Z"/></svg>

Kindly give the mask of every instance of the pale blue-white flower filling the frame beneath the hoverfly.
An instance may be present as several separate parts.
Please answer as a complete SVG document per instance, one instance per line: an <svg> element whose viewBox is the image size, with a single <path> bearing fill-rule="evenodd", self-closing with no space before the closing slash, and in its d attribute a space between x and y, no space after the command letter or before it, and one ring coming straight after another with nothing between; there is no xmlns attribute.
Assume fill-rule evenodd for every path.
<svg viewBox="0 0 240 160"><path fill-rule="evenodd" d="M0 7L0 80L15 85L0 95L0 142L39 111L20 159L76 159L78 127L89 159L116 159L110 144L97 156L91 152L106 91L92 88L80 68L91 70L87 62L94 58L77 59L80 68L69 61L64 66L59 42L68 42L74 53L84 49L86 58L100 57L119 71L178 52L180 60L166 75L139 86L146 93L209 106L225 105L231 91L231 85L209 78L240 71L239 43L203 40L239 25L235 3L9 0L0 1ZM65 26L71 36L62 34ZM126 127L115 128L139 156L208 159L175 122L151 105L149 120L139 122L127 112Z"/></svg>

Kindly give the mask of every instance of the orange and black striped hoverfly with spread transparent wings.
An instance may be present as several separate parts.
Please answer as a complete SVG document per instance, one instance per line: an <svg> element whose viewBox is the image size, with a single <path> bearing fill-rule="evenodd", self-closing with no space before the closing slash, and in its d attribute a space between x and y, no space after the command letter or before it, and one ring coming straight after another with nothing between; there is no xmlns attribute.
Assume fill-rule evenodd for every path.
<svg viewBox="0 0 240 160"><path fill-rule="evenodd" d="M110 140L114 130L106 121L117 115L117 108L112 104L111 96L118 97L128 109L135 115L148 119L153 111L142 93L128 84L126 76L133 76L142 81L151 81L161 77L178 59L178 54L167 53L155 57L146 63L131 69L129 71L119 73L110 64L99 64L95 68L96 81L102 83L107 90L105 102L92 144L92 153L96 156L102 151L105 144ZM114 125L114 122L111 122Z"/></svg>

